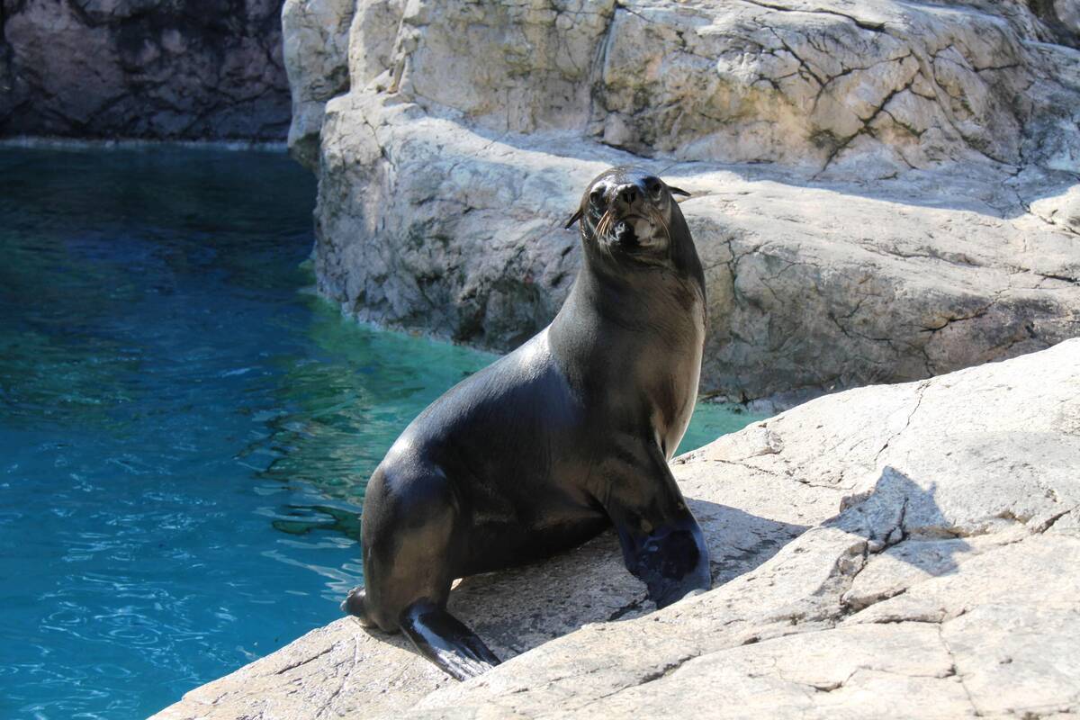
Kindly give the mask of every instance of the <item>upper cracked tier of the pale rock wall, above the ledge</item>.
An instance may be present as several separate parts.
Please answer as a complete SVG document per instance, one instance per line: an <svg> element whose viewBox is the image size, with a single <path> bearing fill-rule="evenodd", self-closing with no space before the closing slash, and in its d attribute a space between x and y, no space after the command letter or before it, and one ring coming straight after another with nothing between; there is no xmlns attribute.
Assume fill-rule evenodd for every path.
<svg viewBox="0 0 1080 720"><path fill-rule="evenodd" d="M865 139L894 169L1016 164L1058 140L1021 132L1053 109L1057 79L1024 44L1052 33L1004 4L414 2L391 86L496 132L572 130L683 160L818 169Z"/></svg>

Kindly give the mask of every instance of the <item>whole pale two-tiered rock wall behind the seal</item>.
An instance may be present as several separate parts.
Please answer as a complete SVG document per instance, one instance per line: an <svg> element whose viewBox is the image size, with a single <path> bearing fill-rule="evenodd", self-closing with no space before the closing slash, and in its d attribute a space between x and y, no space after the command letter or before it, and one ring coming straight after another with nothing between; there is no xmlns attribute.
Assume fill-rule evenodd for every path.
<svg viewBox="0 0 1080 720"><path fill-rule="evenodd" d="M637 163L694 193L706 391L805 396L1049 347L1080 335L1075 14L361 0L330 35L286 32L320 288L509 349L569 288L582 188ZM310 80L347 72L333 98L343 80Z"/></svg>

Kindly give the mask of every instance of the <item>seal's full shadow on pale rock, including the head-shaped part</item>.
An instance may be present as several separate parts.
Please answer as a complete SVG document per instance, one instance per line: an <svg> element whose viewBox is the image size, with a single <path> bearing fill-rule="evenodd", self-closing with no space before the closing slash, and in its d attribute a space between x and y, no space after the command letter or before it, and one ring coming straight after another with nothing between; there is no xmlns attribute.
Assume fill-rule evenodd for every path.
<svg viewBox="0 0 1080 720"><path fill-rule="evenodd" d="M957 570L955 556L970 546L949 536L935 490L886 466L865 493L849 498L821 527L866 538L877 552L928 574L949 574ZM705 500L687 502L705 533L714 588L754 570L808 529ZM450 594L449 610L507 660L586 623L639 617L654 607L607 531L542 562L468 578ZM401 635L373 634L413 650Z"/></svg>

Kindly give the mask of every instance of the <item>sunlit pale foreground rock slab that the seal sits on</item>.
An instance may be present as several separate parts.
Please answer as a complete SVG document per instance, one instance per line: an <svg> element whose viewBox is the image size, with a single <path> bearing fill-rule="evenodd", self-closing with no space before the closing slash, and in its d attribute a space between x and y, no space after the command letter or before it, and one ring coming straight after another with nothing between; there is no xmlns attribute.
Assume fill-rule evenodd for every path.
<svg viewBox="0 0 1080 720"><path fill-rule="evenodd" d="M714 589L661 611L602 535L471 578L464 683L338 620L156 718L1080 714L1080 340L822 397L676 459Z"/></svg>

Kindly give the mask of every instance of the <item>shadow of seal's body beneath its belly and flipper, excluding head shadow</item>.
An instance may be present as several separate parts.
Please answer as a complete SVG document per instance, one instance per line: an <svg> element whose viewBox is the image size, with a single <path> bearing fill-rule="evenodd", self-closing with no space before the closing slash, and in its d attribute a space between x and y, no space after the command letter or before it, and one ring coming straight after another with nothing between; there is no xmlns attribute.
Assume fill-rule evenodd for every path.
<svg viewBox="0 0 1080 720"><path fill-rule="evenodd" d="M708 544L714 587L750 572L806 530L704 500L687 502ZM645 585L623 566L612 531L542 562L468 578L451 592L448 608L502 660L586 623L654 610ZM404 636L373 634L411 650Z"/></svg>

